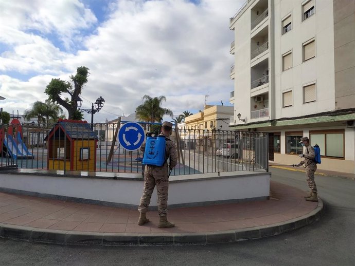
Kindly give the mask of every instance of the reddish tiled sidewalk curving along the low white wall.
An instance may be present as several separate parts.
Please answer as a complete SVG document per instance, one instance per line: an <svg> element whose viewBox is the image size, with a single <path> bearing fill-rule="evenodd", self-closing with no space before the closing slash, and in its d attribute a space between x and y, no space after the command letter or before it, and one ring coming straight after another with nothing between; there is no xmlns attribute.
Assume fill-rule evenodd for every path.
<svg viewBox="0 0 355 266"><path fill-rule="evenodd" d="M7 234L7 228L10 228L11 232L14 232L16 228L26 231L26 236L20 238L29 239L33 239L31 231L41 232L42 230L46 234L66 236L86 232L81 235L87 236L87 239L90 237L91 239L100 239L101 237L101 243L104 241L102 239L105 235L111 234L111 238L118 237L116 242L119 242L121 239L119 237L124 235L130 236L133 243L137 241L139 244L139 239L140 242L142 241L142 235L155 237L166 234L167 241L176 242L178 239L176 236L179 236L180 240L181 237L191 237L192 235L199 236L199 239L201 236L207 239L208 234L214 234L214 239L218 242L219 238L216 238L216 234L225 236L226 233L234 232L236 234L237 231L244 233L254 231L253 234L255 234L255 230L259 230L258 234L262 237L264 235L261 230L263 228L270 229L275 224L277 224L278 233L289 231L312 222L313 220L309 217L318 215L318 212L323 208L322 201L318 204L305 201L303 196L306 192L294 187L273 181L271 181L270 187L271 197L266 201L171 209L168 219L175 223L175 227L169 229L157 227L158 215L156 211L147 214L150 219L149 223L139 226L137 225L139 215L137 210L0 193L1 235L16 237L16 234ZM203 237L202 242L204 241ZM245 235L244 238L257 237ZM63 239L66 243L67 237ZM228 239L228 241L233 240L233 234ZM39 240L46 241L45 237ZM48 241L51 240L58 242L48 237ZM222 239L220 240L223 242ZM235 240L240 239L236 238ZM166 242L162 239L159 241ZM193 238L190 238L188 242L191 241L193 242Z"/></svg>

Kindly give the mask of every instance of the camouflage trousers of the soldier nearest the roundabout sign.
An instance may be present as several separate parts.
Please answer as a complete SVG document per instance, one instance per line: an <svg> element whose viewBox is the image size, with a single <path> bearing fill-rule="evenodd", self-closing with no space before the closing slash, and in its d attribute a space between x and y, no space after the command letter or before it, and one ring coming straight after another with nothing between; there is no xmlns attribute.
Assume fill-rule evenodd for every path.
<svg viewBox="0 0 355 266"><path fill-rule="evenodd" d="M158 214L159 216L166 216L168 212L169 189L169 177L166 165L165 167L146 165L144 170L143 195L140 198L138 211L140 213L148 212L150 199L155 186L158 196Z"/></svg>

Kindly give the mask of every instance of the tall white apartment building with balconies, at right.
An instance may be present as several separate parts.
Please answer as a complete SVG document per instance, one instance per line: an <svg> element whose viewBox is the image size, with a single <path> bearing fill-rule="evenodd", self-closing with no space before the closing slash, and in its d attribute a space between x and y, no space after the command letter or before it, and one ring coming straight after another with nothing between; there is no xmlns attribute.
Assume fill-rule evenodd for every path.
<svg viewBox="0 0 355 266"><path fill-rule="evenodd" d="M355 173L355 1L248 0L230 18L236 130L269 132L269 160L294 164L302 136L320 169Z"/></svg>

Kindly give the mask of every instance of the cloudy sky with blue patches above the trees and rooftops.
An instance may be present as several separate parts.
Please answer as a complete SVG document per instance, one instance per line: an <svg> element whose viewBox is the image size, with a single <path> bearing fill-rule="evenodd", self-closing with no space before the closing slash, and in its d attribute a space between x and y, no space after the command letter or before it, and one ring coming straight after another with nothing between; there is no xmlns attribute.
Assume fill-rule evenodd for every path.
<svg viewBox="0 0 355 266"><path fill-rule="evenodd" d="M230 105L229 17L244 2L1 0L0 107L23 113L79 66L90 69L83 108L106 101L95 122L133 113L145 94L164 95L175 116Z"/></svg>

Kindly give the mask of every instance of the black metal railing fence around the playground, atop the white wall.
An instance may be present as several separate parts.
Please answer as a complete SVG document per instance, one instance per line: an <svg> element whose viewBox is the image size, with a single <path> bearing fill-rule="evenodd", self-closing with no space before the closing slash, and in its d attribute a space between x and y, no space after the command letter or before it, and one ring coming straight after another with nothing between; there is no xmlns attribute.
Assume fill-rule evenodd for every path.
<svg viewBox="0 0 355 266"><path fill-rule="evenodd" d="M115 139L119 124L97 123L93 131L73 123L48 127L24 124L21 129L18 125L1 126L5 131L1 169L142 173L144 168L143 151L128 151ZM155 134L160 130L159 125L143 127ZM171 140L179 155L171 175L268 169L267 133L173 129Z"/></svg>

